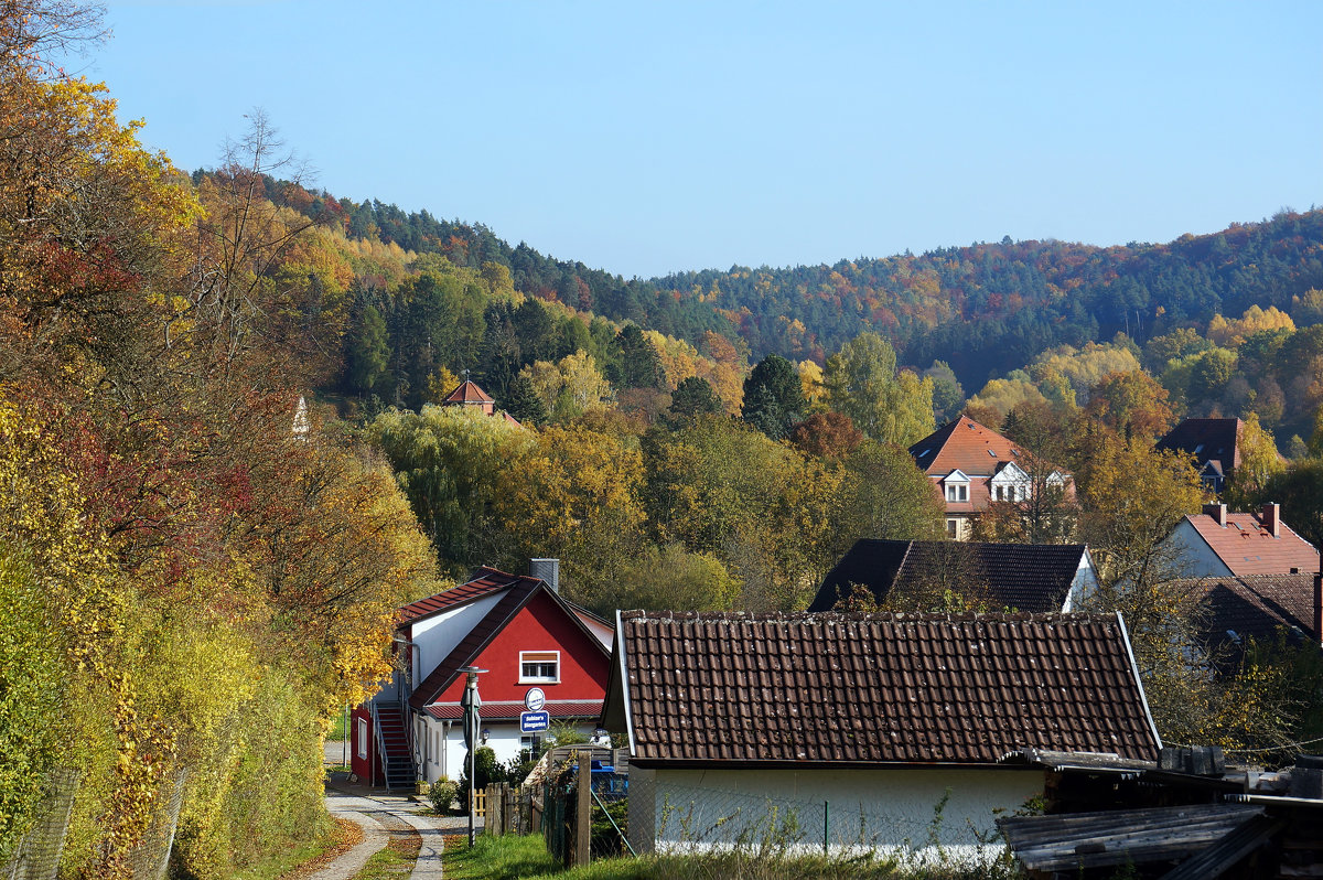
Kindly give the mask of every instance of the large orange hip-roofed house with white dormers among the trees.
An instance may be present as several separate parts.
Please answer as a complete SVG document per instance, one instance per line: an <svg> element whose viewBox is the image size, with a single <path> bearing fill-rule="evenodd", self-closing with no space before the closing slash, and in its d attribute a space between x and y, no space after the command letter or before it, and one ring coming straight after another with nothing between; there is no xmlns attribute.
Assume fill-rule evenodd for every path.
<svg viewBox="0 0 1323 880"><path fill-rule="evenodd" d="M937 429L909 453L942 494L946 533L957 540L968 537L974 517L992 502L1023 502L1033 492L1025 470L1033 455L968 416ZM1057 470L1048 479L1069 484L1070 475Z"/></svg>

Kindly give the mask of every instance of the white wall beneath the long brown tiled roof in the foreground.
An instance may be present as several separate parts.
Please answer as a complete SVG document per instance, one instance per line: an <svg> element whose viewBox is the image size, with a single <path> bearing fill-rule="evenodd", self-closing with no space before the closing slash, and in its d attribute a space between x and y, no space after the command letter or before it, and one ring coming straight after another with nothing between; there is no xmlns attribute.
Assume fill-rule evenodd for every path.
<svg viewBox="0 0 1323 880"><path fill-rule="evenodd" d="M1043 791L1032 769L667 770L630 768L630 842L636 851L757 848L791 820L795 848L835 854L878 850L916 861L937 860L933 835L949 859L988 861L999 815ZM947 797L950 793L950 797ZM943 798L946 802L943 805ZM941 805L941 815L938 809ZM648 831L651 831L651 838Z"/></svg>

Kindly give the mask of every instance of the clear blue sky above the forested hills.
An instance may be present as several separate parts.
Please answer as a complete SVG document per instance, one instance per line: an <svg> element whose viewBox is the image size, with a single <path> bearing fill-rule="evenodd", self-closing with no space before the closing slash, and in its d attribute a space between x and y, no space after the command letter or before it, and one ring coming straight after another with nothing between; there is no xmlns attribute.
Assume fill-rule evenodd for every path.
<svg viewBox="0 0 1323 880"><path fill-rule="evenodd" d="M1323 3L110 3L185 169L263 107L336 196L626 277L1170 241L1323 204Z"/></svg>

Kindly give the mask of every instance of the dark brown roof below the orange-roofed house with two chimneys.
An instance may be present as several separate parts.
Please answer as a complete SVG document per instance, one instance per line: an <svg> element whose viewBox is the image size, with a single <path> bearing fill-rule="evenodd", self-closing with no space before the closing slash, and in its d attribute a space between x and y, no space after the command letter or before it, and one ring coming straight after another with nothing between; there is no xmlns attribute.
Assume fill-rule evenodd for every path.
<svg viewBox="0 0 1323 880"><path fill-rule="evenodd" d="M1314 630L1314 574L1246 574L1175 581L1171 588L1203 597L1211 644L1273 642L1278 630L1310 638ZM1232 635L1234 633L1234 635Z"/></svg>

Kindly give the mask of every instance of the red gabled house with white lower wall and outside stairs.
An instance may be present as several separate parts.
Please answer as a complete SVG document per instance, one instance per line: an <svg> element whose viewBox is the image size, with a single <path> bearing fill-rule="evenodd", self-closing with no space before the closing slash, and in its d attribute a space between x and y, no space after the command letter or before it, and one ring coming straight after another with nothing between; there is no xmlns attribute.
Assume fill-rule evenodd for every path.
<svg viewBox="0 0 1323 880"><path fill-rule="evenodd" d="M537 744L538 733L520 730L533 688L552 723L595 726L613 627L560 595L557 560L533 560L532 572L482 568L466 584L398 610L400 671L353 712L359 778L388 789L459 778L466 666L487 670L478 679L484 742L500 762Z"/></svg>

